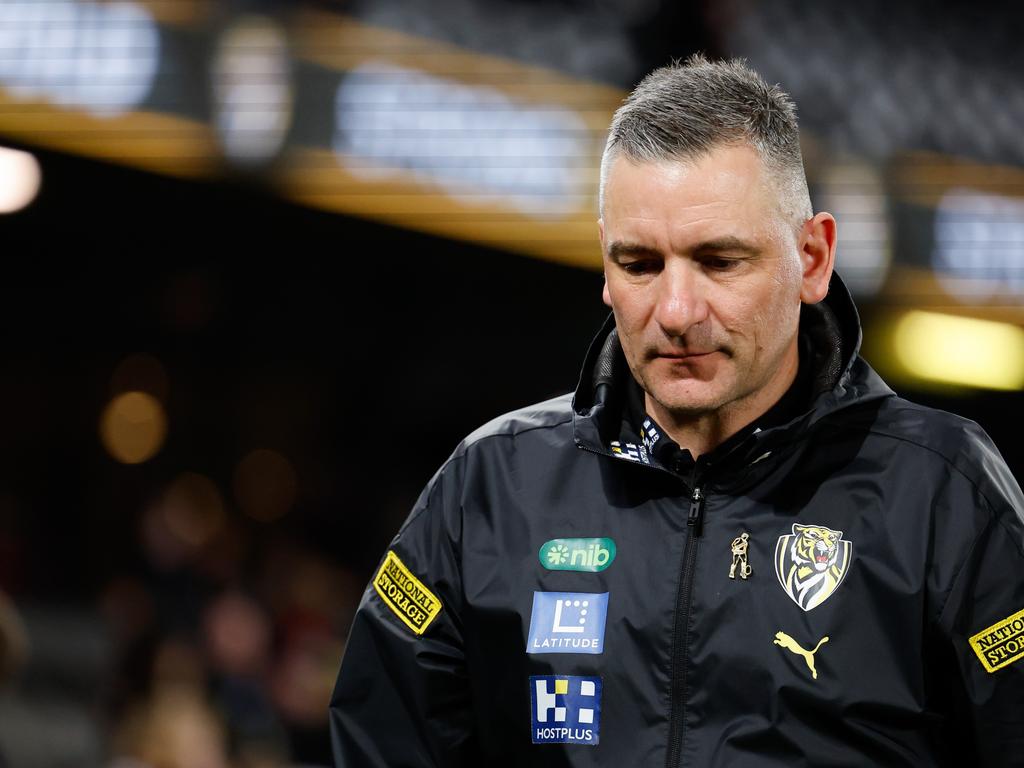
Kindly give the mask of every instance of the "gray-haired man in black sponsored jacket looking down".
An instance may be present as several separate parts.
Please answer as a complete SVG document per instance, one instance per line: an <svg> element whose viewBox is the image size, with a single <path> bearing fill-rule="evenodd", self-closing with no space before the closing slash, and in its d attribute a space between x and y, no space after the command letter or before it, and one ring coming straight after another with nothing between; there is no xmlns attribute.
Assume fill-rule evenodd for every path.
<svg viewBox="0 0 1024 768"><path fill-rule="evenodd" d="M1024 498L858 356L788 97L653 73L601 214L613 317L571 398L424 490L351 629L339 762L1024 765Z"/></svg>

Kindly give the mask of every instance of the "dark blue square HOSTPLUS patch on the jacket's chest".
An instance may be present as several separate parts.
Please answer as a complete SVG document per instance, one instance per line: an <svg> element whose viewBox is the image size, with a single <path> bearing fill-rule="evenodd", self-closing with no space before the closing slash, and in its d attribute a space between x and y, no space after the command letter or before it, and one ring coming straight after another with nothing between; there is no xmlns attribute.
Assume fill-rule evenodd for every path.
<svg viewBox="0 0 1024 768"><path fill-rule="evenodd" d="M601 678L529 678L530 736L535 744L596 744L601 729Z"/></svg>

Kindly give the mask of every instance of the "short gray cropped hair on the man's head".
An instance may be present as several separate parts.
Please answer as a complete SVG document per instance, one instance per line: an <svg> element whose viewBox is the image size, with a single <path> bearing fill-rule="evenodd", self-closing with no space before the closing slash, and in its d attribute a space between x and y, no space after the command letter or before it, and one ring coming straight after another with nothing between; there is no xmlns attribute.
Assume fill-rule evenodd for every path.
<svg viewBox="0 0 1024 768"><path fill-rule="evenodd" d="M645 77L615 111L601 157L598 205L620 155L636 163L686 161L728 144L761 156L795 224L813 215L800 153L797 106L743 59L711 61L697 53Z"/></svg>

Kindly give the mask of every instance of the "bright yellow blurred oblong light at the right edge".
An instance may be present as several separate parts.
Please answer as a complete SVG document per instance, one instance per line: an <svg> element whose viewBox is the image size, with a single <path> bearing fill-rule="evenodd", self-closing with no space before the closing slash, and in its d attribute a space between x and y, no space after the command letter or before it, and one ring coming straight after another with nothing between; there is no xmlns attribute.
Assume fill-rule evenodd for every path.
<svg viewBox="0 0 1024 768"><path fill-rule="evenodd" d="M910 311L893 341L913 376L985 389L1024 389L1024 330L1006 323Z"/></svg>

